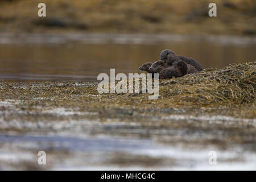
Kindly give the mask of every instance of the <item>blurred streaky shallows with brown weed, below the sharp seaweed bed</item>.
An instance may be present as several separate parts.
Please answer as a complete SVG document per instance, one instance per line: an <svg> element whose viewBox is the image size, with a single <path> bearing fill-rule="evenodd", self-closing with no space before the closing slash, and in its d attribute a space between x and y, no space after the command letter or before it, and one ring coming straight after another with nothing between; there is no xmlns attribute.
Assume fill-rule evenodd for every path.
<svg viewBox="0 0 256 182"><path fill-rule="evenodd" d="M98 112L42 106L51 102L45 98L31 98L41 106L26 107L24 100L0 101L0 169L256 169L255 119L177 113L104 119ZM45 166L38 164L42 150ZM210 151L216 165L209 164Z"/></svg>

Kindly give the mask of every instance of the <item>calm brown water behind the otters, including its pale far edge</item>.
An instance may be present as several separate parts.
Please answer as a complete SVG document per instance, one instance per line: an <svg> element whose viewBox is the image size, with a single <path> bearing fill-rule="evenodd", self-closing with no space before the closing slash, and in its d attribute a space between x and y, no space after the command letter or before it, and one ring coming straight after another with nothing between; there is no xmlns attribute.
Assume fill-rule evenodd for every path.
<svg viewBox="0 0 256 182"><path fill-rule="evenodd" d="M204 68L254 61L253 38L149 35L0 36L0 78L96 81L99 73L136 73L163 49L193 57Z"/></svg>

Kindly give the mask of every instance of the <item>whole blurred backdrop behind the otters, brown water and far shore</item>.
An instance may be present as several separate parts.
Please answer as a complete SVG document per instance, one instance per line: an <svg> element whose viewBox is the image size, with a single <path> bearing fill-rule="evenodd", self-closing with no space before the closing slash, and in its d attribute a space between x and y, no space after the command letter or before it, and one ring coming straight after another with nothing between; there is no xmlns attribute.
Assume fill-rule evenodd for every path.
<svg viewBox="0 0 256 182"><path fill-rule="evenodd" d="M96 81L110 68L139 72L167 48L222 68L254 61L255 35L254 0L2 0L0 78Z"/></svg>

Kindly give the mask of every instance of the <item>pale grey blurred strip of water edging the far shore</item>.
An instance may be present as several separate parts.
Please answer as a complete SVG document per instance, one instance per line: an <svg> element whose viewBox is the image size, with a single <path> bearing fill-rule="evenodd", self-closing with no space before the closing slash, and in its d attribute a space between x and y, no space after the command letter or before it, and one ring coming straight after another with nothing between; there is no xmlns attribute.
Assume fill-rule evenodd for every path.
<svg viewBox="0 0 256 182"><path fill-rule="evenodd" d="M256 44L256 36L207 35L207 34L122 34L122 33L3 33L0 44L162 44L164 42L210 42L224 45L250 46Z"/></svg>

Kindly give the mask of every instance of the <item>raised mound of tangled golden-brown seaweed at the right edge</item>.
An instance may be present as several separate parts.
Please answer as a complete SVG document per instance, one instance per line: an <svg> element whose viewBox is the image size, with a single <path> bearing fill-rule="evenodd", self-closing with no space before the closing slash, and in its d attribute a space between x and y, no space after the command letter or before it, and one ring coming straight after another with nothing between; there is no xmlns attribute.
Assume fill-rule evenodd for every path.
<svg viewBox="0 0 256 182"><path fill-rule="evenodd" d="M174 84L174 82L176 84ZM230 64L162 81L159 94L175 103L195 105L255 104L256 62Z"/></svg>

